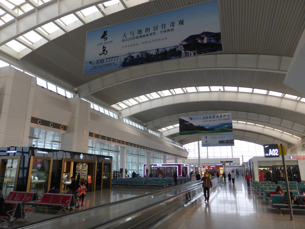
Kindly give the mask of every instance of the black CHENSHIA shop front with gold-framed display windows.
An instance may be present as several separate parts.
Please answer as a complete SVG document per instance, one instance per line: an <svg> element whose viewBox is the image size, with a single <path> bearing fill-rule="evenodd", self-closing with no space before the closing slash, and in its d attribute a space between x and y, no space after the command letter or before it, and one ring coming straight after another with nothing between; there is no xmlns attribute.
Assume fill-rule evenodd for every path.
<svg viewBox="0 0 305 229"><path fill-rule="evenodd" d="M0 190L68 193L70 177L88 191L111 188L112 157L35 147L0 148Z"/></svg>

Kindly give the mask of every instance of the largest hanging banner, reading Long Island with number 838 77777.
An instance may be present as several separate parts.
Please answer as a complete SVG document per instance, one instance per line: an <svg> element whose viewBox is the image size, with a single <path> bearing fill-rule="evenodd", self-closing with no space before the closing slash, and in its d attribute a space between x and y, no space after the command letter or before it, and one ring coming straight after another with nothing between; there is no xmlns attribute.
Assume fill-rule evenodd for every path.
<svg viewBox="0 0 305 229"><path fill-rule="evenodd" d="M84 74L222 50L218 1L87 32Z"/></svg>

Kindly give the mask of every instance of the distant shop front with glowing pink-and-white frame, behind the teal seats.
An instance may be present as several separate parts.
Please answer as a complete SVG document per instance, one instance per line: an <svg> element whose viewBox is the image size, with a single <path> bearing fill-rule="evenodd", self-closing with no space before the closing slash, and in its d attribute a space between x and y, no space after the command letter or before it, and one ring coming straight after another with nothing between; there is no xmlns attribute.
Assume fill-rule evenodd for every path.
<svg viewBox="0 0 305 229"><path fill-rule="evenodd" d="M143 174L146 176L173 177L174 172L179 176L189 176L188 164L150 164L146 173L146 164L143 164Z"/></svg>

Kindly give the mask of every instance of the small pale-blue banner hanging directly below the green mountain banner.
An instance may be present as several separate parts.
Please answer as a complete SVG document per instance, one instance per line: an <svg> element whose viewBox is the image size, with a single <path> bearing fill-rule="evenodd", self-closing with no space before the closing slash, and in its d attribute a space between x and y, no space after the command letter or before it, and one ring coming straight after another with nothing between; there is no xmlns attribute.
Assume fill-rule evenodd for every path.
<svg viewBox="0 0 305 229"><path fill-rule="evenodd" d="M201 146L234 146L234 134L202 135Z"/></svg>

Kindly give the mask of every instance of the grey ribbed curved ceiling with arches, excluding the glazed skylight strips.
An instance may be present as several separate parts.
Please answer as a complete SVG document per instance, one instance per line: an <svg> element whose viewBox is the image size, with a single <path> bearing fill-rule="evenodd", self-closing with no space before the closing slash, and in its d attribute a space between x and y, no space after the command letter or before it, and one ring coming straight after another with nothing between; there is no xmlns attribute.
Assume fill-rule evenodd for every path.
<svg viewBox="0 0 305 229"><path fill-rule="evenodd" d="M140 5L136 5L134 2L138 1L133 0L120 2L125 3L123 8L126 9L105 14L72 31L65 32L34 49L19 61L26 66L34 67L51 82L66 89L78 89L80 97L84 96L108 106L151 92L194 86L248 87L305 97L303 93L283 83L305 29L305 1L219 0L223 51L83 75L87 31L208 2L208 0L155 0L143 1L144 3ZM133 7L128 7L128 4ZM3 50L1 52L8 56ZM291 103L294 102L291 100ZM136 109L136 106L144 106L144 104L128 109ZM230 101L202 99L185 101L183 104L160 103L149 109L131 112L126 116L124 110L120 112L124 117L133 118L158 129L169 123L178 123L177 117L181 114L194 112L205 114L211 111L230 111L236 120L245 122L254 120L257 124L263 123L265 126L298 137L305 136L305 129L303 130L305 110L297 111L276 104L251 103L237 99ZM248 115L240 116L246 113ZM267 118L260 120L260 118L251 118L253 116ZM169 120L167 117L172 118ZM158 124L153 124L156 120ZM256 139L260 144L271 142L260 137L262 135L274 140L281 139L273 136L272 133L257 134L247 128L235 129L234 132L240 140ZM175 138L175 134L172 137ZM186 138L176 137L176 139L183 143L190 141ZM283 139L282 141L286 144L292 143Z"/></svg>

